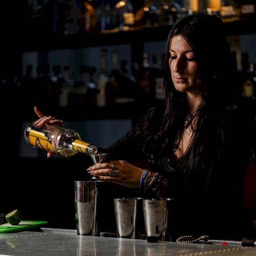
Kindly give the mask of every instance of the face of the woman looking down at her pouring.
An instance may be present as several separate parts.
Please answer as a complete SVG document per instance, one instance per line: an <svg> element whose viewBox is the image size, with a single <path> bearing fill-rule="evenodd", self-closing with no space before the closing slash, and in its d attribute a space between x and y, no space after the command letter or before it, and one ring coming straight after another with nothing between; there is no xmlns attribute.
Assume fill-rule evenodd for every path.
<svg viewBox="0 0 256 256"><path fill-rule="evenodd" d="M181 35L172 38L169 53L169 68L175 89L179 92L198 93L195 54Z"/></svg>

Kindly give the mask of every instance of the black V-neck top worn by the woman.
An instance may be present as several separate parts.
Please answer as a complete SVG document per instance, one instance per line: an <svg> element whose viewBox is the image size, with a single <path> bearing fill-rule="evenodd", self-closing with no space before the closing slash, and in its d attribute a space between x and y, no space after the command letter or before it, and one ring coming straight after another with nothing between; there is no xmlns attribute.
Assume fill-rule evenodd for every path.
<svg viewBox="0 0 256 256"><path fill-rule="evenodd" d="M203 142L200 159L205 168L199 172L196 166L189 171L186 168L193 157L193 144L176 160L171 149L152 136L160 129L163 111L148 111L108 151L115 160L146 160L153 172L168 179L166 197L174 199L168 221L170 236L207 234L210 239L240 241L245 236L256 236L254 224L245 217L243 209L243 186L250 157L245 116L238 108L226 108L219 123L208 128L212 136ZM200 135L202 141L204 137Z"/></svg>

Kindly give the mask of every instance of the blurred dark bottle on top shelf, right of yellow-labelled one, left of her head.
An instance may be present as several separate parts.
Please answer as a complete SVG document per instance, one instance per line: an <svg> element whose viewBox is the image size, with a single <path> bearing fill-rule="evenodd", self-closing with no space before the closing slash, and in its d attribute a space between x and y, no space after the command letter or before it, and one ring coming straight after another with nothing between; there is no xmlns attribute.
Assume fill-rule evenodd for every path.
<svg viewBox="0 0 256 256"><path fill-rule="evenodd" d="M136 27L153 27L158 25L158 9L153 0L144 0L144 5L135 13Z"/></svg>

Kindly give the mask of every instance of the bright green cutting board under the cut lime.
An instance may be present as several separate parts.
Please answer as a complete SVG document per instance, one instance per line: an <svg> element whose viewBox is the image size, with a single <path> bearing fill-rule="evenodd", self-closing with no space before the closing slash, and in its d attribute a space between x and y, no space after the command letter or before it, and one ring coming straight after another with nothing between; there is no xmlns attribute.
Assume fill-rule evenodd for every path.
<svg viewBox="0 0 256 256"><path fill-rule="evenodd" d="M13 233L47 225L47 221L20 221L18 225L5 223L0 225L0 233Z"/></svg>

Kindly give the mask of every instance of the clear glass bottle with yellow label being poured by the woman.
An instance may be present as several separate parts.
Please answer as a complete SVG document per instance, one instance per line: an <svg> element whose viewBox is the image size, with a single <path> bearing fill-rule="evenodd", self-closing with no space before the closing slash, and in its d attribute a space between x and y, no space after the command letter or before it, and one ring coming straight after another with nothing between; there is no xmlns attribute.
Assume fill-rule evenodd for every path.
<svg viewBox="0 0 256 256"><path fill-rule="evenodd" d="M32 147L64 157L74 156L77 152L92 155L98 151L95 145L81 141L79 134L72 129L52 124L39 128L33 123L29 123L24 132L25 141Z"/></svg>

